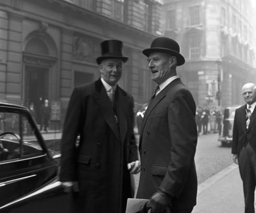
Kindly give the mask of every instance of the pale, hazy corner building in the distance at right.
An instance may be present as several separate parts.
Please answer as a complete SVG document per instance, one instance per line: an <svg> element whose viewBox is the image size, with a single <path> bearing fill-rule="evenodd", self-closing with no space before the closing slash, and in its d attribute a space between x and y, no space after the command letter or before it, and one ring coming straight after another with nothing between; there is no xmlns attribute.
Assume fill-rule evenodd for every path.
<svg viewBox="0 0 256 213"><path fill-rule="evenodd" d="M163 35L181 44L178 74L198 106L243 104L243 84L256 83L252 1L163 0Z"/></svg>

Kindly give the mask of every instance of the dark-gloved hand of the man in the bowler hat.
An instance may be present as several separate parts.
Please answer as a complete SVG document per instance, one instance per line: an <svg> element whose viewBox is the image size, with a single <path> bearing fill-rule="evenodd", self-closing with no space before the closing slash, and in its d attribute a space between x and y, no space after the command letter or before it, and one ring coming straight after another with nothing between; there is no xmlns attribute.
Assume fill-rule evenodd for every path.
<svg viewBox="0 0 256 213"><path fill-rule="evenodd" d="M161 192L156 192L153 196L149 199L146 204L146 207L150 208L151 213L160 213L165 210L167 205L169 205L171 198L168 197L166 194Z"/></svg>

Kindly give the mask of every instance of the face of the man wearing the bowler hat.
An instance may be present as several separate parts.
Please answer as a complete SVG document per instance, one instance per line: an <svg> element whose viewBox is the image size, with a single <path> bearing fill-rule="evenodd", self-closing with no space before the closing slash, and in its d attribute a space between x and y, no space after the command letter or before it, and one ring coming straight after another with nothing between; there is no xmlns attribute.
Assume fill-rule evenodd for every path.
<svg viewBox="0 0 256 213"><path fill-rule="evenodd" d="M165 53L151 53L148 57L148 66L151 71L151 79L158 85L170 78L171 57Z"/></svg>

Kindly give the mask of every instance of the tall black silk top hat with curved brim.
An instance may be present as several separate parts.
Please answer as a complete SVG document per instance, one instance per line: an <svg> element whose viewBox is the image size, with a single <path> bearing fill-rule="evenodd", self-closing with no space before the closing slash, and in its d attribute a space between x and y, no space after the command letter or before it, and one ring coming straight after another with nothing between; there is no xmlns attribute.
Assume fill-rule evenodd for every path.
<svg viewBox="0 0 256 213"><path fill-rule="evenodd" d="M128 57L122 55L123 42L119 40L106 40L101 42L102 55L96 59L100 64L102 60L107 58L119 58L126 62Z"/></svg>

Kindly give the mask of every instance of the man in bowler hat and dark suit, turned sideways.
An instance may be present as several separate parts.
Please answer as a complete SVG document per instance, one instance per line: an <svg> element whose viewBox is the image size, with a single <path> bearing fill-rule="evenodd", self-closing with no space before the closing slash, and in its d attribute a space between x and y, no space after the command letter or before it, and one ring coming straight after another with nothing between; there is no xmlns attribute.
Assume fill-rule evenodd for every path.
<svg viewBox="0 0 256 213"><path fill-rule="evenodd" d="M157 83L143 117L137 198L149 199L151 213L190 213L196 205L195 101L176 72L185 63L176 41L160 37L142 51Z"/></svg>

